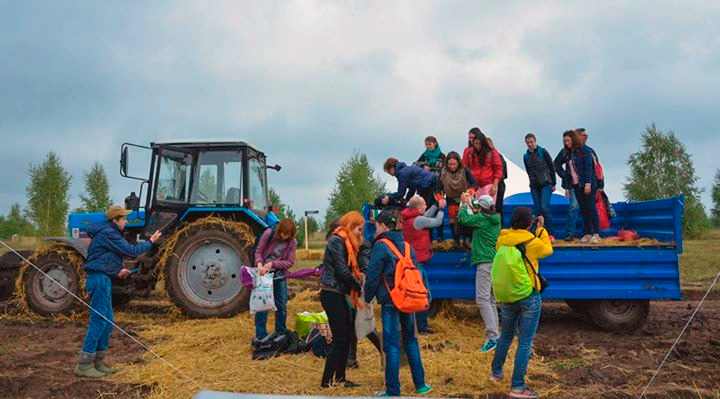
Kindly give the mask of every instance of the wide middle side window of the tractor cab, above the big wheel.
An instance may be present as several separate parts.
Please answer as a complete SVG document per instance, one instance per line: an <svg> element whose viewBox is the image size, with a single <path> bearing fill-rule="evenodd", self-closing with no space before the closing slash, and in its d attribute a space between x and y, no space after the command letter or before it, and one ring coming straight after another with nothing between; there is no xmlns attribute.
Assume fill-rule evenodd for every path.
<svg viewBox="0 0 720 399"><path fill-rule="evenodd" d="M201 152L190 200L200 205L239 205L242 186L240 151Z"/></svg>

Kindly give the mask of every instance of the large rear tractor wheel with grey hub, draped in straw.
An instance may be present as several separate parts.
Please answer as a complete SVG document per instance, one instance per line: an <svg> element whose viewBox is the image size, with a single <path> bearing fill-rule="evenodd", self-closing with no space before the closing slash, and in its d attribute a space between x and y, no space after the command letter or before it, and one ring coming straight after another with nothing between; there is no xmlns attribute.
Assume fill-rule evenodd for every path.
<svg viewBox="0 0 720 399"><path fill-rule="evenodd" d="M240 268L250 246L224 229L198 226L175 245L165 265L165 289L190 317L230 317L247 310L250 290Z"/></svg>

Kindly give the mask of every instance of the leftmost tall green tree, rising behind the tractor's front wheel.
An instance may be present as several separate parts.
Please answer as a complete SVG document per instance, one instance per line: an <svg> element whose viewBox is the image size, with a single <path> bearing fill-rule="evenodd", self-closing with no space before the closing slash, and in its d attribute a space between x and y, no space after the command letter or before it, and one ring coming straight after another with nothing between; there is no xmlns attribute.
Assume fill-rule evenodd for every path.
<svg viewBox="0 0 720 399"><path fill-rule="evenodd" d="M28 177L25 216L42 235L64 235L72 176L63 168L60 157L49 152L42 164L30 164Z"/></svg>

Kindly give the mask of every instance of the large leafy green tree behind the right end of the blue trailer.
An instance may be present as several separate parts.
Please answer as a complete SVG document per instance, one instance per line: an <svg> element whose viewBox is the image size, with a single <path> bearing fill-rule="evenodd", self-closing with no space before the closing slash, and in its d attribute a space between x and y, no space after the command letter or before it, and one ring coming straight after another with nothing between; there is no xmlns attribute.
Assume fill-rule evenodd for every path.
<svg viewBox="0 0 720 399"><path fill-rule="evenodd" d="M683 230L689 237L697 237L708 227L708 221L687 148L672 130L663 132L654 123L645 128L641 141L642 149L628 159L627 198L645 201L684 194Z"/></svg>

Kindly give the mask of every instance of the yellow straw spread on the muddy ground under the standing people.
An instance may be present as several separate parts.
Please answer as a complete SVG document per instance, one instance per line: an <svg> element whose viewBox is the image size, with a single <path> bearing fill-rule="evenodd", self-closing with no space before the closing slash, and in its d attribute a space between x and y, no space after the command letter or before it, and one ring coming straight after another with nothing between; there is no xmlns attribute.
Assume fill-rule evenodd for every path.
<svg viewBox="0 0 720 399"><path fill-rule="evenodd" d="M288 303L288 327L301 311L321 311L319 291L300 292ZM380 328L379 309L375 309ZM268 321L272 329L273 321ZM421 354L431 396L485 397L489 392L506 392L510 385L514 350L506 363L506 378L501 384L488 380L492 353L480 353L484 327L474 306L446 307L431 320L436 333L420 336ZM153 326L140 332L153 351L195 379L203 388L286 395L369 395L384 389L380 357L367 341L358 345L359 369L348 369L347 378L359 383L355 389L320 389L324 359L312 353L283 354L266 361L251 360L250 339L254 334L253 316L244 313L231 319L184 320ZM112 378L151 388L150 398L189 398L198 387L174 372L151 354L144 362L121 366ZM535 354L530 363L529 382L556 381L542 356ZM409 367L400 371L402 391L413 392ZM546 391L541 393L546 394Z"/></svg>

